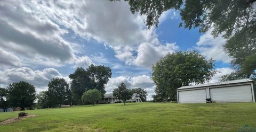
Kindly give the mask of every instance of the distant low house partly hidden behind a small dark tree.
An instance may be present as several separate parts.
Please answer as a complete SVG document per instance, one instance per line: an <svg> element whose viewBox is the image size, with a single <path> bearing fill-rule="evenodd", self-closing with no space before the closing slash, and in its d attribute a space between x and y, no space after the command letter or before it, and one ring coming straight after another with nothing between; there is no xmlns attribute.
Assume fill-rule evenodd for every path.
<svg viewBox="0 0 256 132"><path fill-rule="evenodd" d="M113 96L113 93L106 93L106 94L104 94L104 100L102 102L115 103L118 101L120 101L120 100L116 99L115 96ZM126 102L142 102L140 99L140 94L133 93L132 99L127 100Z"/></svg>

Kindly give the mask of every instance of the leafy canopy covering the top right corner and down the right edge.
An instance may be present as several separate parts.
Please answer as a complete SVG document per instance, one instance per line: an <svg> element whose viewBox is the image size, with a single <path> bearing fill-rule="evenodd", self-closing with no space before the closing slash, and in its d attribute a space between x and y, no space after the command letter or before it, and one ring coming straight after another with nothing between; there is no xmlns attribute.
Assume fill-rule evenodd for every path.
<svg viewBox="0 0 256 132"><path fill-rule="evenodd" d="M223 46L234 58L234 74L249 78L256 76L256 3L255 0L125 0L132 13L146 15L148 28L158 24L163 12L173 9L180 13L180 27L210 29L214 37L223 33L227 42ZM252 78L252 77L251 77Z"/></svg>

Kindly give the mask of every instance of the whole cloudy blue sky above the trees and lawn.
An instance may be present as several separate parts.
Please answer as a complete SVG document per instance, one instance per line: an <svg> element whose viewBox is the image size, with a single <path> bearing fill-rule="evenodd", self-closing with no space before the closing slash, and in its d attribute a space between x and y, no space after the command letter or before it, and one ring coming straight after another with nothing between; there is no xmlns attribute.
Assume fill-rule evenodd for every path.
<svg viewBox="0 0 256 132"><path fill-rule="evenodd" d="M76 67L105 65L112 70L107 93L124 82L129 89L145 89L150 100L155 88L151 67L168 52L185 50L216 60L219 72L210 82L233 71L221 36L179 28L181 18L174 10L148 29L146 16L132 14L129 7L107 0L1 1L0 86L27 81L39 92L53 77L70 83L68 75Z"/></svg>

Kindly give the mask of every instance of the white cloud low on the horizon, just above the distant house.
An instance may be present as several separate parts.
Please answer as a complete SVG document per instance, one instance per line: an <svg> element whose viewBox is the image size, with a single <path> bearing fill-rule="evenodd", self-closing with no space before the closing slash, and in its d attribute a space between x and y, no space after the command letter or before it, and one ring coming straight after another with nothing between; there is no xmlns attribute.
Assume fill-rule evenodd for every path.
<svg viewBox="0 0 256 132"><path fill-rule="evenodd" d="M137 87L141 87L147 91L148 96L147 100L151 100L151 96L155 93L155 84L153 80L151 80L150 76L141 75L141 76L134 76L134 77L125 77L125 76L118 76L114 78L110 78L109 82L105 85L105 90L107 93L112 93L115 88L121 83L124 82L127 89L134 89Z"/></svg>

